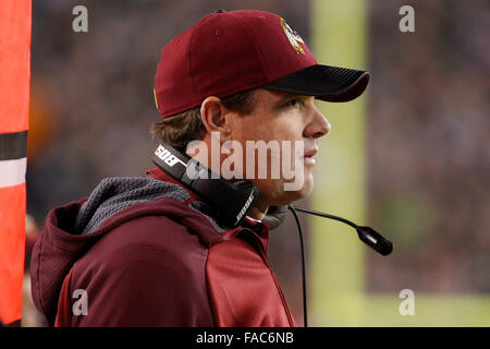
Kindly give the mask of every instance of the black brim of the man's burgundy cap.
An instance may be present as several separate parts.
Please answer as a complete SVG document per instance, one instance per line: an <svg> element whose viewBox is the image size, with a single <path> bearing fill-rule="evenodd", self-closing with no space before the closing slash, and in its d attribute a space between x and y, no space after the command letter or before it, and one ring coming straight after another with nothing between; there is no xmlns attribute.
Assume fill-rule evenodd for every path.
<svg viewBox="0 0 490 349"><path fill-rule="evenodd" d="M280 77L264 87L315 96L327 101L348 101L360 96L368 82L368 72L317 64Z"/></svg>

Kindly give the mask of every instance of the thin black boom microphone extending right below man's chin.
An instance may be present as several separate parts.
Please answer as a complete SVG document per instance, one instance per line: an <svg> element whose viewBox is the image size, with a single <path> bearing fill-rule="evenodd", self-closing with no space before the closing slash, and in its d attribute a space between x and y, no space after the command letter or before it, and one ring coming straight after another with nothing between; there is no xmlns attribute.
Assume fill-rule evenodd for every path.
<svg viewBox="0 0 490 349"><path fill-rule="evenodd" d="M379 254L389 255L393 251L393 243L370 227L360 227L345 218L324 214L324 213L313 210L313 209L295 207L292 205L290 205L290 207L293 207L290 209L296 209L296 210L299 210L299 212L303 212L306 214L320 216L323 218L335 219L335 220L342 221L342 222L353 227L354 229L356 229L357 236L359 237L360 241L366 243L368 246L373 249Z"/></svg>

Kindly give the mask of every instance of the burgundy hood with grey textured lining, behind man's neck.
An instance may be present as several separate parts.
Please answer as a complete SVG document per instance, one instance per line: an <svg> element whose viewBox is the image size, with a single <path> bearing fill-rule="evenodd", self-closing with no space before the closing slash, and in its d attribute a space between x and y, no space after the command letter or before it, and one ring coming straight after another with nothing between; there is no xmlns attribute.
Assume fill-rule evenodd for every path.
<svg viewBox="0 0 490 349"><path fill-rule="evenodd" d="M61 286L73 264L125 221L164 215L188 227L207 246L241 230L220 226L208 205L163 172L154 169L147 174L103 179L88 197L49 212L30 261L33 299L49 323L56 317Z"/></svg>

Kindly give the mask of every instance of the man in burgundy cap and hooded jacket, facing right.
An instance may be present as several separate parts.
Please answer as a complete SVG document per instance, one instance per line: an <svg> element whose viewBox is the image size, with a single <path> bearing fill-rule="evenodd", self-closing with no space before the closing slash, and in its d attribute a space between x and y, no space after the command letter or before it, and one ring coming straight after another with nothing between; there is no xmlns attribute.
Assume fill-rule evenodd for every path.
<svg viewBox="0 0 490 349"><path fill-rule="evenodd" d="M295 326L267 260L269 226L261 220L271 206L313 190L318 139L330 131L314 98L347 101L367 82L366 72L318 64L272 13L219 11L176 36L162 50L155 83L162 121L151 132L162 141L156 154L167 170L105 179L46 219L32 289L49 324ZM262 157L247 147L274 142ZM293 143L301 146L286 152ZM232 196L192 186L224 180L179 180L172 171L191 163L170 155L172 147L212 170L228 168L236 191L258 189L235 224L223 218ZM223 166L231 148L234 161ZM264 163L267 176L259 173ZM293 173L278 174L273 164L282 170L286 163Z"/></svg>

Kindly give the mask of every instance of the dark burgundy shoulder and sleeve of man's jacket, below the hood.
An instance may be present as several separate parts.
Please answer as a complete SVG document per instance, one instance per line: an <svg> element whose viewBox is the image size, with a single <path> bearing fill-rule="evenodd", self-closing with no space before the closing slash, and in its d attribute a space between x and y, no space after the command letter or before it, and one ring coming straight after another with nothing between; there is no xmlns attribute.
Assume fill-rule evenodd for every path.
<svg viewBox="0 0 490 349"><path fill-rule="evenodd" d="M206 289L208 250L187 227L143 216L113 228L73 268L86 291L74 326L213 326Z"/></svg>

